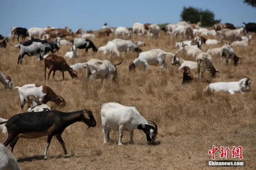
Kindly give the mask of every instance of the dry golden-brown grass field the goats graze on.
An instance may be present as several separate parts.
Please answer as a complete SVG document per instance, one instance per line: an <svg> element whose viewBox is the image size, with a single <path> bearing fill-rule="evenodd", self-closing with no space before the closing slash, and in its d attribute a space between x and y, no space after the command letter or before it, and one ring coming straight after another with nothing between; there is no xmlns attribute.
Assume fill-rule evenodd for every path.
<svg viewBox="0 0 256 170"><path fill-rule="evenodd" d="M105 45L114 35L93 39L99 47ZM133 36L132 41L146 42L142 51L160 48L176 53L174 41L170 35L161 33L156 40L147 37ZM233 146L243 147L244 169L256 169L256 37L248 47L234 47L236 54L243 57L238 66L231 62L228 67L220 66L220 57L213 56L215 67L220 70L212 82L238 81L243 75L252 79L251 92L246 94L204 94L207 84L182 85L182 72L178 66L171 65L171 58L166 59L169 74L160 67L150 66L150 70L129 72L129 63L137 57L137 53L123 54L123 63L118 66L117 82L96 80L85 81L85 70L78 70L78 78L72 79L65 72L62 80L61 72L56 72L54 79L44 81L44 62L36 57L25 56L22 65L18 65L19 49L14 45L17 41L8 43L6 48L0 48L0 70L12 78L14 87L36 83L50 86L56 94L66 100L65 107L57 107L54 103L48 105L52 109L64 112L80 109L91 109L97 121L94 128L87 129L84 123L70 125L62 138L66 149L71 155L64 157L60 143L54 137L48 150L48 160L43 160L42 154L46 146L46 137L38 139L20 139L14 148L22 170L39 169L213 169L206 166L211 160L208 150L212 145L229 147L230 155ZM220 47L203 45L203 51L208 48ZM57 55L64 56L71 46L62 46ZM104 55L94 53L89 49L78 50L80 57L66 59L72 65L86 62L89 59L105 59ZM181 57L181 56L180 56ZM182 56L183 59L189 57ZM190 58L190 60L194 60ZM112 59L112 63L120 59ZM224 63L225 64L225 63ZM205 74L205 75L208 75ZM193 74L197 77L197 74ZM105 102L118 102L126 106L135 106L146 119L152 119L158 124L158 136L155 145L146 144L146 135L142 131L134 132L134 145L129 145L129 133L125 132L124 145L118 146L118 132L111 131L111 143L104 145L100 106ZM23 112L26 111L24 107ZM22 113L18 90L4 89L0 85L0 117L8 119ZM0 134L1 143L6 134ZM215 154L220 160L220 151ZM224 160L226 160L224 158ZM228 160L240 160L229 158ZM218 167L220 169L221 167ZM226 169L227 167L225 167ZM231 168L230 168L231 169Z"/></svg>

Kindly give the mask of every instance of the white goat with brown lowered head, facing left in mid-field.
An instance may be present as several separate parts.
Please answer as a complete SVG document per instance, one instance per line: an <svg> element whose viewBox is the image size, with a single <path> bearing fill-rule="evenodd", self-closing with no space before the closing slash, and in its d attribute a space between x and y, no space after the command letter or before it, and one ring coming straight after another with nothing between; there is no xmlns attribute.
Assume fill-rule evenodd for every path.
<svg viewBox="0 0 256 170"><path fill-rule="evenodd" d="M166 71L168 73L168 65L165 62L166 55L174 57L174 54L168 53L161 49L152 49L149 51L142 52L138 55L136 59L134 59L134 61L130 63L129 71L135 71L136 66L139 65L143 65L143 70L145 70L146 67L147 69L149 69L149 65L157 65L159 63L160 73L162 73L163 67L166 68Z"/></svg>

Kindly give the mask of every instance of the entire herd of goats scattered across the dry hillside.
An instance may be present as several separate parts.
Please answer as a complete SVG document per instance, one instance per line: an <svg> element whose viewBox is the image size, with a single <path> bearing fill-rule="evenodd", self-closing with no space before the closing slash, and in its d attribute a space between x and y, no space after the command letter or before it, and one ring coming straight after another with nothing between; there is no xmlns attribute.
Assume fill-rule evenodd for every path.
<svg viewBox="0 0 256 170"><path fill-rule="evenodd" d="M112 80L115 81L118 76L117 65L112 64L108 60L90 59L86 63L76 63L69 66L64 57L73 58L78 57L77 49L85 49L85 53L88 53L88 49L92 49L94 52L103 52L105 55L120 57L121 52L129 53L136 52L138 57L129 64L129 71L134 70L137 66L143 66L143 70L149 69L149 65L160 64L160 73L162 68L166 68L168 73L168 65L165 62L166 57L172 57L172 64L178 64L179 70L183 72L182 84L190 82L208 82L210 80L204 78L204 72L208 70L210 76L214 78L219 72L214 66L212 56L220 56L222 65L223 58L226 60L226 66L228 66L229 59L231 59L236 66L239 59L232 46L248 46L252 39L253 33L256 33L256 23L244 23L245 27L236 28L230 23L215 24L212 29L206 29L200 27L200 22L193 24L186 21L180 21L175 24L168 24L160 29L156 24L141 24L134 23L132 28L117 27L108 28L107 24L104 24L100 31L94 33L94 31L85 31L84 29L78 29L76 33L73 33L71 29L65 27L64 29L56 29L54 27L46 28L21 28L12 27L11 37L14 39L22 37L22 42L15 45L20 49L18 56L18 64L22 64L22 60L25 55L37 56L38 60L44 60L46 79L46 69L49 69L48 79L51 72L53 72L52 78L57 70L62 71L62 78L64 80L64 72L68 71L72 78L77 77L76 70L80 68L86 68L86 80L90 78L91 81L95 79L104 78L108 80L112 76ZM173 54L171 52L164 51L162 49L150 49L144 51L140 47L146 44L143 41L132 42L129 39L131 35L148 36L152 39L157 39L160 31L164 31L166 34L170 34L172 38L178 39L192 39L187 41L177 41L175 47L179 49L178 53ZM108 41L105 46L97 48L92 39L97 37L109 36L110 33L115 33L116 38L112 41ZM29 37L28 41L24 41L26 37ZM72 41L63 39L66 36L72 36ZM120 39L118 37L122 37ZM206 36L219 36L220 41L216 39L206 39ZM0 47L6 47L8 38L0 35ZM49 41L54 39L54 41ZM228 43L223 43L228 41ZM72 43L72 45L71 45ZM203 52L201 45L216 45L221 44L222 47L208 49ZM66 53L64 57L54 55L56 51L60 49L62 45L71 45L71 50ZM47 54L51 52L52 54ZM187 55L194 59L194 61L186 61L180 55ZM107 57L107 56L106 56ZM196 70L198 78L190 76L190 70ZM245 93L250 91L251 79L247 76L237 82L215 82L209 84L205 91L212 92L227 92ZM5 76L0 71L0 82L4 84L5 88L12 89L12 80L10 76ZM26 113L20 113L12 116L10 119L0 118L0 131L7 133L8 136L3 145L0 145L2 149L0 152L8 152L5 149L10 145L13 151L19 138L35 139L42 136L47 136L47 145L44 152L44 159L47 158L47 150L50 146L50 141L53 136L60 142L64 150L64 154L68 155L65 148L64 141L61 134L66 127L77 121L82 121L89 127L95 127L96 121L92 114L92 111L84 109L80 111L74 111L70 113L63 113L56 110L51 110L47 105L47 102L54 102L58 106L65 106L66 102L62 96L58 96L50 87L46 85L37 84L25 84L22 87L15 87L18 89L20 96L20 107L23 109L27 104L28 111ZM32 107L31 107L32 105ZM31 108L30 108L31 107ZM114 118L113 118L114 117ZM109 139L110 130L119 131L118 145L122 145L122 136L124 131L130 132L130 144L133 143L133 131L134 129L140 129L146 134L146 140L148 144L153 144L158 134L158 128L154 121L147 121L140 115L135 107L123 106L118 103L106 103L101 106L101 118L102 118L102 132L103 141L107 143ZM152 125L151 125L152 124ZM154 126L153 126L154 125ZM4 147L5 146L5 147ZM4 151L5 150L5 151ZM7 154L7 153L6 153ZM10 154L9 154L10 155ZM7 156L8 157L8 156ZM11 156L9 156L11 159ZM8 162L8 161L7 161ZM6 165L7 166L7 165ZM1 168L1 167L0 167Z"/></svg>

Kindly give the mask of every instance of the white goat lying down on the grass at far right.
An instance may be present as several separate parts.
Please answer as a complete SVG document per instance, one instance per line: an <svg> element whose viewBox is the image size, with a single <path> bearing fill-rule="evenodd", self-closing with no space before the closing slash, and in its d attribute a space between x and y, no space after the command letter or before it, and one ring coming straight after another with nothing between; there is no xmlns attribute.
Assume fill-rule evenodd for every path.
<svg viewBox="0 0 256 170"><path fill-rule="evenodd" d="M250 91L251 82L249 77L242 78L238 82L216 82L209 84L204 91L244 94L245 92Z"/></svg>

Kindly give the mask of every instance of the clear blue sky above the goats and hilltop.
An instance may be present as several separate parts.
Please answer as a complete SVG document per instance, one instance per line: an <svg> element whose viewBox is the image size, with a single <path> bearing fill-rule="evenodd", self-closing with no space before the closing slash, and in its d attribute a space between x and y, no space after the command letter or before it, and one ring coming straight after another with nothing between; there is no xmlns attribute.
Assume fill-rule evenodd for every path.
<svg viewBox="0 0 256 170"><path fill-rule="evenodd" d="M132 27L134 22L176 23L184 6L209 9L215 19L242 26L256 22L256 8L243 0L2 0L0 34L6 36L13 26L65 27L73 31L110 27Z"/></svg>

